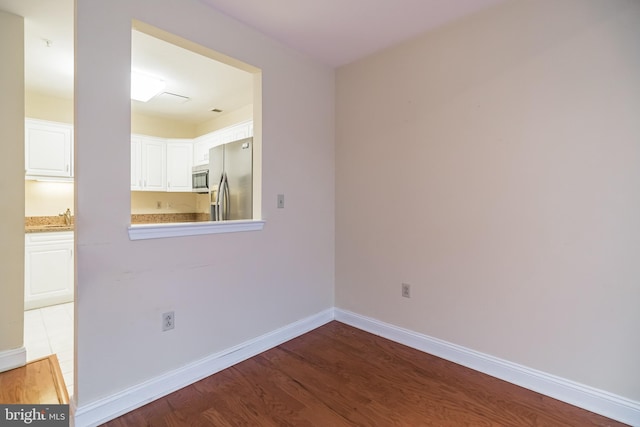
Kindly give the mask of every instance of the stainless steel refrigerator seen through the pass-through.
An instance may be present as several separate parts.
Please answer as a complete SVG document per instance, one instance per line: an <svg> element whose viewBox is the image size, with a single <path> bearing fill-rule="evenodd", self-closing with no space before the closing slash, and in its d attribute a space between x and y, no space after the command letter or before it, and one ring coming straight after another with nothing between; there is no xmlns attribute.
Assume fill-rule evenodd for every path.
<svg viewBox="0 0 640 427"><path fill-rule="evenodd" d="M253 218L253 138L209 150L211 221Z"/></svg>

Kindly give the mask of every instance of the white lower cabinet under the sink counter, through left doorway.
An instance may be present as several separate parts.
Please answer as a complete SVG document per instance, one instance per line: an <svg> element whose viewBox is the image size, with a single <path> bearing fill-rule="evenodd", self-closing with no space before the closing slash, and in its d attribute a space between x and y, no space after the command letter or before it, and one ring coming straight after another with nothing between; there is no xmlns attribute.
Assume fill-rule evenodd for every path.
<svg viewBox="0 0 640 427"><path fill-rule="evenodd" d="M24 308L73 301L73 232L25 234Z"/></svg>

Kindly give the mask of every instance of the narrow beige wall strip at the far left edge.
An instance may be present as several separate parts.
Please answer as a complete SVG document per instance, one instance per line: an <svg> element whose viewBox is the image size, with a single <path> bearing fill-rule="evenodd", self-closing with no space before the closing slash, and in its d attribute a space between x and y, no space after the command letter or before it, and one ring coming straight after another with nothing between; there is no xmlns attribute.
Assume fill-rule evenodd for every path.
<svg viewBox="0 0 640 427"><path fill-rule="evenodd" d="M21 17L0 11L0 359L22 347L24 329L23 29Z"/></svg>

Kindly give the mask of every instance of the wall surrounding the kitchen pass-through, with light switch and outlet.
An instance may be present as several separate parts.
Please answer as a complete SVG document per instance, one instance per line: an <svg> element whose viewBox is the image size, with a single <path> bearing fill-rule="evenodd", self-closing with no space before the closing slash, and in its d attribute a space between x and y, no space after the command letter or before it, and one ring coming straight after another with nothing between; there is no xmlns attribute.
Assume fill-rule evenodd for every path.
<svg viewBox="0 0 640 427"><path fill-rule="evenodd" d="M333 306L334 79L333 70L199 1L80 1L76 8L75 396L82 411ZM263 70L263 231L129 240L125 82L133 18ZM286 209L276 208L278 193ZM163 333L168 310L176 328Z"/></svg>

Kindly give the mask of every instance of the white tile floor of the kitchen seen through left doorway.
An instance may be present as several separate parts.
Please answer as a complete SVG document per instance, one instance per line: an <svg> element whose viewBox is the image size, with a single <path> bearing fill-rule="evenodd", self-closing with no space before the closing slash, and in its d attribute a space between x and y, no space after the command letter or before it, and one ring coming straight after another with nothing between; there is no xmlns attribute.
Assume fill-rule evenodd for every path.
<svg viewBox="0 0 640 427"><path fill-rule="evenodd" d="M25 311L24 345L27 362L56 354L69 396L73 395L73 303Z"/></svg>

